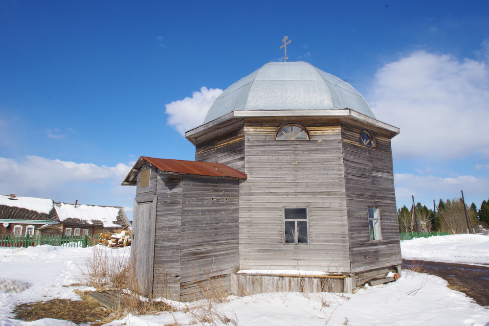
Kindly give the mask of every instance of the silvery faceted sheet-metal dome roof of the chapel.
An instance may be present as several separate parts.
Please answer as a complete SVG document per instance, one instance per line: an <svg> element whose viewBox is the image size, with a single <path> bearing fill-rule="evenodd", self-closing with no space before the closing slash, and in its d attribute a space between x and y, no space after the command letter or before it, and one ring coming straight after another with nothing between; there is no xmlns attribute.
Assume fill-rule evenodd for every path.
<svg viewBox="0 0 489 326"><path fill-rule="evenodd" d="M214 101L203 123L232 111L345 108L376 119L363 96L332 74L303 61L269 62L229 86Z"/></svg>

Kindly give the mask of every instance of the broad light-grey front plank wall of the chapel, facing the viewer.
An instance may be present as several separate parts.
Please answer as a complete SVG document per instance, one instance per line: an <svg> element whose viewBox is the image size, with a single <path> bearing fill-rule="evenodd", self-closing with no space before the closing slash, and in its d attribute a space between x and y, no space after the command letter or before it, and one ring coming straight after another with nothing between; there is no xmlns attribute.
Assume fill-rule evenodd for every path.
<svg viewBox="0 0 489 326"><path fill-rule="evenodd" d="M240 269L350 271L338 120L296 118L311 140L275 140L285 119L244 125ZM309 244L284 243L284 207L307 207Z"/></svg>

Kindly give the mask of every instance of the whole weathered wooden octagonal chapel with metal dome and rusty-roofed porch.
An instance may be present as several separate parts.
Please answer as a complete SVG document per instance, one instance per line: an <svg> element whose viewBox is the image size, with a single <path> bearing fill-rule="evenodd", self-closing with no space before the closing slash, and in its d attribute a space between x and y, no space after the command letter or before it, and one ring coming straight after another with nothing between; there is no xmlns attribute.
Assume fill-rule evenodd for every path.
<svg viewBox="0 0 489 326"><path fill-rule="evenodd" d="M141 292L351 292L400 273L398 133L308 63L271 62L239 80L185 134L193 170L141 157L123 183L136 186ZM228 173L201 173L209 162Z"/></svg>

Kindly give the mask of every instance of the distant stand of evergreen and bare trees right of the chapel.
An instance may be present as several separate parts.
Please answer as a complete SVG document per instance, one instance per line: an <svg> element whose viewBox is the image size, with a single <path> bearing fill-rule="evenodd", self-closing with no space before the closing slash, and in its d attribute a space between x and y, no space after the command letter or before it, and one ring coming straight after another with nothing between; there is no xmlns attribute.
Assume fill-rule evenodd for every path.
<svg viewBox="0 0 489 326"><path fill-rule="evenodd" d="M480 208L472 203L465 207L468 213L469 223L473 229L489 228L489 199L484 200ZM398 209L400 232L451 232L467 233L467 217L462 198L458 200L444 201L440 198L438 205L431 208L416 204L410 209L406 205Z"/></svg>

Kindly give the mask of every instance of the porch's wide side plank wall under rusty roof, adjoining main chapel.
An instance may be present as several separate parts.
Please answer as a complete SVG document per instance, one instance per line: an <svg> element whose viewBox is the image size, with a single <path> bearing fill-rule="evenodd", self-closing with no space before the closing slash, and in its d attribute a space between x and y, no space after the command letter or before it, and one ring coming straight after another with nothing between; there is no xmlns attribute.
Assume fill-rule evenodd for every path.
<svg viewBox="0 0 489 326"><path fill-rule="evenodd" d="M234 273L239 268L238 214L238 179L183 176L182 297L195 296L194 292L203 283L209 290L224 284L229 288L229 279L218 282L216 278Z"/></svg>

